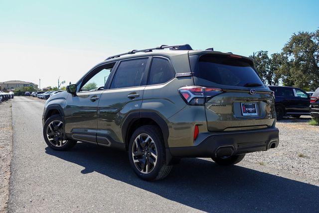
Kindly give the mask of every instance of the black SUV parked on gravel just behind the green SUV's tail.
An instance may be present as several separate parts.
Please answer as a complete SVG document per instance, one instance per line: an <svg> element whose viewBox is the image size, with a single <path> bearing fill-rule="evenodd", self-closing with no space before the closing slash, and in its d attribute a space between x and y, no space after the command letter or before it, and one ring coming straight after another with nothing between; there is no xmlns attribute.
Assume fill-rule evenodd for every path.
<svg viewBox="0 0 319 213"><path fill-rule="evenodd" d="M288 86L269 86L275 92L277 120L285 115L299 118L310 114L310 95L300 88Z"/></svg>

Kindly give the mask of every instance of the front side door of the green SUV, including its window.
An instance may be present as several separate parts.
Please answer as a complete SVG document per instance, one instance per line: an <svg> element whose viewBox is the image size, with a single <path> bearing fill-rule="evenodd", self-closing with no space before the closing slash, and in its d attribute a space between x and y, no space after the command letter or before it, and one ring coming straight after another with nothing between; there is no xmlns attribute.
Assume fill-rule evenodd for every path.
<svg viewBox="0 0 319 213"><path fill-rule="evenodd" d="M65 132L74 140L96 142L97 109L115 63L94 68L78 83L76 95L68 95L65 106Z"/></svg>

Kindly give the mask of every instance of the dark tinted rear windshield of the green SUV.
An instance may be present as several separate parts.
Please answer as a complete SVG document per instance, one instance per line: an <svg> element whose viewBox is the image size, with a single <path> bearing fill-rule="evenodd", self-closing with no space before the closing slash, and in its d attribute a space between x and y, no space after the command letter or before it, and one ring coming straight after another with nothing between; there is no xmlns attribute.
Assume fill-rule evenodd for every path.
<svg viewBox="0 0 319 213"><path fill-rule="evenodd" d="M231 58L227 55L207 54L201 56L194 76L204 79L205 84L214 83L241 87L264 85L251 62L242 58Z"/></svg>

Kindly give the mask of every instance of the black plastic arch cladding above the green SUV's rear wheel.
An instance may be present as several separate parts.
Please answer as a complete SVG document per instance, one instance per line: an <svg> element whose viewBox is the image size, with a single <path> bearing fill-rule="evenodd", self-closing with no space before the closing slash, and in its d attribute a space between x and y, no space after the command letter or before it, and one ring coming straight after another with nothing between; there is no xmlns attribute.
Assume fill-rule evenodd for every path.
<svg viewBox="0 0 319 213"><path fill-rule="evenodd" d="M164 119L155 112L133 112L127 116L122 125L122 137L123 140L125 140L124 143L126 145L126 149L128 150L128 144L134 131L145 125L158 126L163 136L164 146L165 148L168 148L167 140L169 132L168 126Z"/></svg>

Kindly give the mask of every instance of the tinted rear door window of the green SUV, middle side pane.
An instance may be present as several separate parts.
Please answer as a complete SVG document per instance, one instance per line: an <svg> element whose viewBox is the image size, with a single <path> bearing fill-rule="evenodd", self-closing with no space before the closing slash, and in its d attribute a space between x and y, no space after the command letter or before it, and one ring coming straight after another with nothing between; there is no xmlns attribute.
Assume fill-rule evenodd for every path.
<svg viewBox="0 0 319 213"><path fill-rule="evenodd" d="M146 67L149 58L121 61L111 83L111 89L142 86L146 83Z"/></svg>

